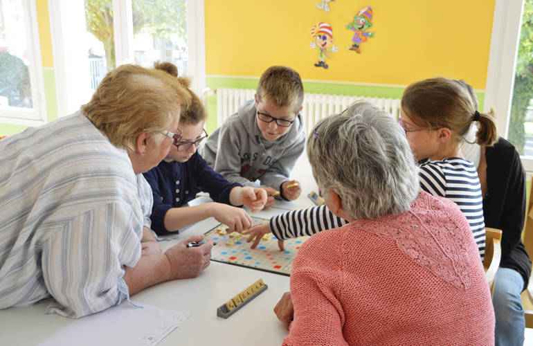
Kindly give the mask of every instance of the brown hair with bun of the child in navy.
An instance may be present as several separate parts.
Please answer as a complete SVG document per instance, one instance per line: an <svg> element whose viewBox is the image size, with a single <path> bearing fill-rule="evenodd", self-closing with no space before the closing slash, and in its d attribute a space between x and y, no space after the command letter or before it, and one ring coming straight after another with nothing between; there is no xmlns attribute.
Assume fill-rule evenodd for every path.
<svg viewBox="0 0 533 346"><path fill-rule="evenodd" d="M165 71L174 77L178 77L177 67L170 62L155 62L154 69ZM178 81L186 88L191 98L188 107L181 109L179 122L184 125L196 125L200 121L206 120L206 108L199 97L190 89L190 78L179 77Z"/></svg>

